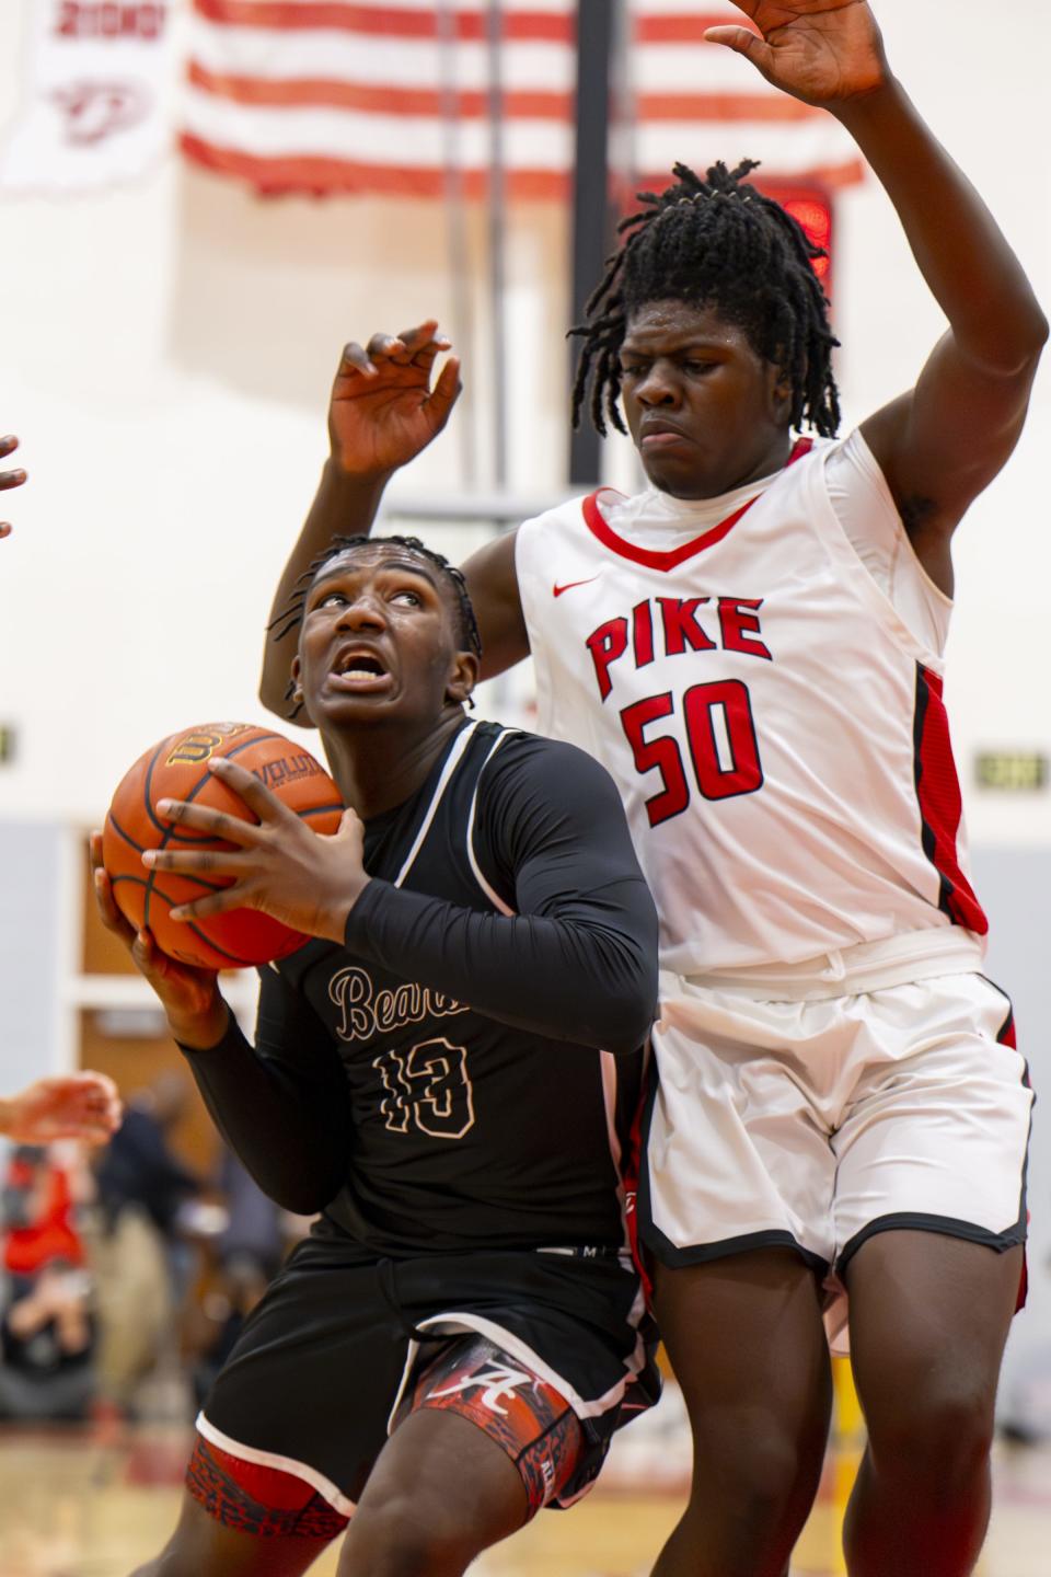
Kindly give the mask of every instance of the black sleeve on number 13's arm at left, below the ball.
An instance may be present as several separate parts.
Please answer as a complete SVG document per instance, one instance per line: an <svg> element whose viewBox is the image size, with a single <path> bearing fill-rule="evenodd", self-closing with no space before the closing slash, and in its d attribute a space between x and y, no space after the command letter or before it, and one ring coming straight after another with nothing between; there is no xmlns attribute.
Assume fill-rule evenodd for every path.
<svg viewBox="0 0 1051 1577"><path fill-rule="evenodd" d="M181 1050L216 1128L263 1192L312 1216L347 1175L344 1068L321 1022L273 970L262 971L255 1042L230 1014L217 1046Z"/></svg>

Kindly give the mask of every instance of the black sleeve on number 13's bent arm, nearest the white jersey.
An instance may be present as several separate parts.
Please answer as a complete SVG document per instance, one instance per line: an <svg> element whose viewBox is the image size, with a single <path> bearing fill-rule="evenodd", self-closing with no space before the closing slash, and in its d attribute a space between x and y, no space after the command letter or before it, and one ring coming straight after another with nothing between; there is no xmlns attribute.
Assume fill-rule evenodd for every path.
<svg viewBox="0 0 1051 1577"><path fill-rule="evenodd" d="M570 744L509 740L479 784L477 848L517 915L370 882L348 951L501 1023L635 1050L657 1000L657 913L605 768Z"/></svg>

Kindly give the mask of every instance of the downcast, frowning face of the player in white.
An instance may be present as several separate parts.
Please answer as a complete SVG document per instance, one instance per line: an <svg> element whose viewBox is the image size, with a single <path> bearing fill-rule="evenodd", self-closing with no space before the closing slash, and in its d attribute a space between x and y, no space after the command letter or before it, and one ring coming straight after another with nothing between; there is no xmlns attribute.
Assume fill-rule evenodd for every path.
<svg viewBox="0 0 1051 1577"><path fill-rule="evenodd" d="M627 426L654 487L714 498L788 459L788 390L711 308L649 301L621 347Z"/></svg>

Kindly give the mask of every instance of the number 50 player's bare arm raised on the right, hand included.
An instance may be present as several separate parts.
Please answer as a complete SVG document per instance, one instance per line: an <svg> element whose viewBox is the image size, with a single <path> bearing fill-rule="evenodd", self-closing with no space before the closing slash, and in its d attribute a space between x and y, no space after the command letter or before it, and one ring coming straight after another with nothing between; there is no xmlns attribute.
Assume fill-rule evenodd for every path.
<svg viewBox="0 0 1051 1577"><path fill-rule="evenodd" d="M920 561L952 591L952 531L1018 442L1046 319L996 219L893 77L865 0L736 3L759 33L706 36L846 126L949 319L915 386L862 431Z"/></svg>

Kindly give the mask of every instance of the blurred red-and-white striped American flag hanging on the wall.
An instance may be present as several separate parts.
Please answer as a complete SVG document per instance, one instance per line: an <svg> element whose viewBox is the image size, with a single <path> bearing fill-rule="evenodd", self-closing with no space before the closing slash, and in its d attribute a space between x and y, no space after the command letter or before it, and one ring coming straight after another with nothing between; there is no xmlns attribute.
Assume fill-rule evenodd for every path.
<svg viewBox="0 0 1051 1577"><path fill-rule="evenodd" d="M262 192L436 197L455 169L482 196L492 74L511 197L572 189L575 0L503 0L493 49L484 0L192 0L181 145ZM615 87L629 183L671 164L763 161L775 183L860 178L854 144L823 110L771 88L704 28L744 21L719 0L626 0Z"/></svg>

